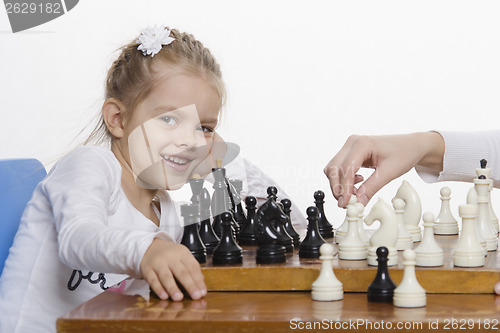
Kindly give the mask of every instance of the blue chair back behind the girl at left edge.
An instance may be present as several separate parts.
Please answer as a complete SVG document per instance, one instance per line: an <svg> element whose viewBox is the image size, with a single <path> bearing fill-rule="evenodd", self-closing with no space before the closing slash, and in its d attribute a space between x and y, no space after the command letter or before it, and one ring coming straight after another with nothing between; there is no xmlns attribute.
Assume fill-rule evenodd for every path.
<svg viewBox="0 0 500 333"><path fill-rule="evenodd" d="M0 275L24 208L46 174L35 159L0 160Z"/></svg>

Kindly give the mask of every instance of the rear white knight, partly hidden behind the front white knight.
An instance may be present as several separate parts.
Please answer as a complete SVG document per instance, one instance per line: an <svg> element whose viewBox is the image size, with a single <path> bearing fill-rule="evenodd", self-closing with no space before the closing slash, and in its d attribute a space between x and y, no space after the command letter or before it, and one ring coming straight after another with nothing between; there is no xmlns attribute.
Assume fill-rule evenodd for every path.
<svg viewBox="0 0 500 333"><path fill-rule="evenodd" d="M419 227L422 217L422 204L417 191L406 180L403 181L395 198L403 199L405 202L404 221L406 229L411 234L413 242L422 240L422 230Z"/></svg>

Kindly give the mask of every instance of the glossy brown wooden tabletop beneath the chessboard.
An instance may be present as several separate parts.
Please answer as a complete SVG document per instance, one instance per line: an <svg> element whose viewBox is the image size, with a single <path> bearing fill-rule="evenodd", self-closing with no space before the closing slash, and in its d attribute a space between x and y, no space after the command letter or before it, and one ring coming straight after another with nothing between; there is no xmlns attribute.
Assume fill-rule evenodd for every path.
<svg viewBox="0 0 500 333"><path fill-rule="evenodd" d="M500 296L430 294L427 306L369 303L365 293L312 301L309 292L210 292L199 301L147 302L105 292L58 320L58 332L498 332ZM310 331L310 330L309 330Z"/></svg>

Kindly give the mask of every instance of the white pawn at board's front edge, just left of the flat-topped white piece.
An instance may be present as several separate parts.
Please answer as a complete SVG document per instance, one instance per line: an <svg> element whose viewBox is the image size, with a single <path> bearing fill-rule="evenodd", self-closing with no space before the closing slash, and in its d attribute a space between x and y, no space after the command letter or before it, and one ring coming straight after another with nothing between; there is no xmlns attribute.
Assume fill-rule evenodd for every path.
<svg viewBox="0 0 500 333"><path fill-rule="evenodd" d="M422 243L415 249L417 254L417 266L443 266L444 251L434 239L434 215L431 212L424 213L424 237Z"/></svg>

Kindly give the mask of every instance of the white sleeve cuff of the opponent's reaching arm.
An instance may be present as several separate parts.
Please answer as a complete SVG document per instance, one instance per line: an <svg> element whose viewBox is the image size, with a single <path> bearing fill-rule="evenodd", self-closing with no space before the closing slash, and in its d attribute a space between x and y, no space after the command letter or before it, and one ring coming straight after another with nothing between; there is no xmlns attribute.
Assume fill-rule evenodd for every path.
<svg viewBox="0 0 500 333"><path fill-rule="evenodd" d="M479 161L486 159L491 169L490 178L500 187L500 130L478 132L439 131L445 141L443 170L416 167L418 175L426 182L465 181L476 178Z"/></svg>

